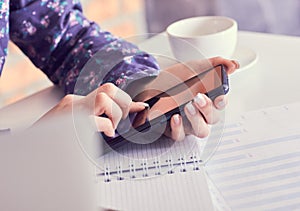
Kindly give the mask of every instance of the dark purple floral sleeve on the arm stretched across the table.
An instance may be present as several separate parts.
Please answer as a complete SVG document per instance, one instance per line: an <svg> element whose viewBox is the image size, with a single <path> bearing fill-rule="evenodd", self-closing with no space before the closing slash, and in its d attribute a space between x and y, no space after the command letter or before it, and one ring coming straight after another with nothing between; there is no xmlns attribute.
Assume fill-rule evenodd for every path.
<svg viewBox="0 0 300 211"><path fill-rule="evenodd" d="M10 38L65 93L84 95L105 82L124 88L159 72L151 55L87 20L78 0L11 0ZM95 56L97 68L87 71Z"/></svg>

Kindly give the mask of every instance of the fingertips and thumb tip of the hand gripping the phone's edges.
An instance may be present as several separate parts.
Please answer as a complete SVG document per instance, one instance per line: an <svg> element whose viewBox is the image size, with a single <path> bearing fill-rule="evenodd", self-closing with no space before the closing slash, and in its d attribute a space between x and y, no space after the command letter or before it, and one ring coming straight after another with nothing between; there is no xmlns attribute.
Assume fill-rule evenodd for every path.
<svg viewBox="0 0 300 211"><path fill-rule="evenodd" d="M212 66L223 64L228 74L239 68L238 62L221 57L211 58L209 62ZM173 115L170 121L171 128L165 135L175 141L183 140L188 134L199 138L207 137L210 132L209 125L218 121L217 110L224 109L226 105L226 95L219 96L212 102L206 95L199 93L193 102L188 103L184 108L188 121L184 121L179 114Z"/></svg>

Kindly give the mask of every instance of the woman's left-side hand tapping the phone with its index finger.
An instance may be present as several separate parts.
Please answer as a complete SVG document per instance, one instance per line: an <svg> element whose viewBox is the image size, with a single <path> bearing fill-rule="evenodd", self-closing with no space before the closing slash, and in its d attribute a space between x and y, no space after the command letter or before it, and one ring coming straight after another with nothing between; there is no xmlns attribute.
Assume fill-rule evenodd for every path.
<svg viewBox="0 0 300 211"><path fill-rule="evenodd" d="M65 112L86 111L95 121L98 131L114 136L121 119L128 113L145 109L145 103L133 102L131 97L112 83L106 83L87 96L67 95L41 119ZM104 117L102 114L105 114ZM102 116L101 116L102 115Z"/></svg>

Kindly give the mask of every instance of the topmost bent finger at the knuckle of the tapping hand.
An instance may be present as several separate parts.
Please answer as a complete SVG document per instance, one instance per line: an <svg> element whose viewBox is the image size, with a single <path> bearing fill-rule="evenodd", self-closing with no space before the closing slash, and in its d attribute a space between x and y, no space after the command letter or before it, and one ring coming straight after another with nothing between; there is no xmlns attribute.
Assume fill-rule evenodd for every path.
<svg viewBox="0 0 300 211"><path fill-rule="evenodd" d="M112 83L103 84L98 88L97 92L106 93L112 100L114 100L119 105L119 107L122 110L123 119L128 116L132 100L126 92L119 89Z"/></svg>

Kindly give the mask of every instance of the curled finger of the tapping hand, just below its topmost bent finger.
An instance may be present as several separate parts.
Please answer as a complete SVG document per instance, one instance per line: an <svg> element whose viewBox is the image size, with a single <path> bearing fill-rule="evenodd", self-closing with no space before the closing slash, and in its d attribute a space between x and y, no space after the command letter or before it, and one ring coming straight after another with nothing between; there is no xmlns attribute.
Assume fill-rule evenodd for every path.
<svg viewBox="0 0 300 211"><path fill-rule="evenodd" d="M96 116L106 114L115 129L122 118L122 110L119 105L104 92L96 95L94 112Z"/></svg>

